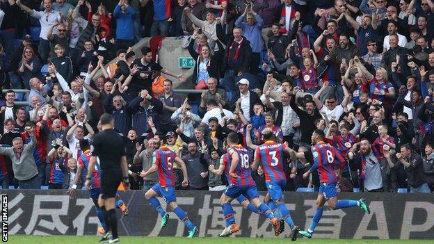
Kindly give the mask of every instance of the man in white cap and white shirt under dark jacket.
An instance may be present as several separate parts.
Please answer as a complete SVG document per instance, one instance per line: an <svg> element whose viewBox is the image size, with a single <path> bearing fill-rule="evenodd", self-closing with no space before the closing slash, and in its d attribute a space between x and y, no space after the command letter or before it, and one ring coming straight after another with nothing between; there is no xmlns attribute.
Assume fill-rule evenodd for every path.
<svg viewBox="0 0 434 244"><path fill-rule="evenodd" d="M248 90L248 79L241 79L236 83L236 85L239 88L239 92L234 92L234 95L232 95L230 111L234 111L236 103L239 103L239 106L243 111L244 117L246 117L246 119L250 121L250 116L255 115L255 112L253 111L253 106L255 106L255 104L262 104L262 101L256 92Z"/></svg>

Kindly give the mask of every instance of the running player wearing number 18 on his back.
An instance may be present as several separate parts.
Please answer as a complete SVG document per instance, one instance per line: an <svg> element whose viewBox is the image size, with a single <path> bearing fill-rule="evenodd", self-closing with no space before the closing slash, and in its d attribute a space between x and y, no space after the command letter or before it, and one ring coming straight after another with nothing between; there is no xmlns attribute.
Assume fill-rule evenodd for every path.
<svg viewBox="0 0 434 244"><path fill-rule="evenodd" d="M252 179L249 168L251 160L247 149L238 145L238 135L234 132L229 133L227 136L227 143L230 147L227 149L229 160L227 162L223 161L218 170L214 170L214 174L222 174L223 170L225 170L227 179L230 179L230 185L220 197L220 204L222 205L226 222L226 227L220 236L230 236L240 229L235 223L234 209L232 209L232 205L230 204L239 195L248 197L253 206L259 209L259 212L266 215L273 225L275 235L278 236L278 219L274 217L273 212L266 204L259 202L259 193L257 192L256 184Z"/></svg>

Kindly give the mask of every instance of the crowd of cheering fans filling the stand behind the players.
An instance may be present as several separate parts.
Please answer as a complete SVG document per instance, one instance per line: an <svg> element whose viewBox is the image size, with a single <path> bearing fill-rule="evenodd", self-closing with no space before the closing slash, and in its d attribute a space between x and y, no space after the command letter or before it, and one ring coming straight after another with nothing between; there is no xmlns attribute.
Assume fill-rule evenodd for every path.
<svg viewBox="0 0 434 244"><path fill-rule="evenodd" d="M228 133L254 148L271 129L306 152L321 129L346 159L341 190L433 190L431 0L0 3L1 85L30 90L26 107L13 90L2 97L3 188L70 188L83 140L111 113L131 189L156 183L156 174L142 176L158 142L182 156L189 190L224 190L225 177L208 168L218 168ZM31 26L40 26L38 43ZM182 39L193 75L161 67L149 47L131 51L149 35ZM204 92L184 99L167 75ZM302 177L311 159L285 164L287 190L319 186L316 174ZM266 190L263 169L252 176Z"/></svg>

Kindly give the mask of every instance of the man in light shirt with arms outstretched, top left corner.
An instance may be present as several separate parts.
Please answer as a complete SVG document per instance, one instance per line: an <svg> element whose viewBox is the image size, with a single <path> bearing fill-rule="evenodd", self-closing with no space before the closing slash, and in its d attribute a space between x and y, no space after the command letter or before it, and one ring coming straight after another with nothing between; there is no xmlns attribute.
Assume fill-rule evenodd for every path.
<svg viewBox="0 0 434 244"><path fill-rule="evenodd" d="M45 8L45 11L36 11L23 5L20 0L17 0L17 6L19 8L29 13L31 17L39 19L41 31L39 34L40 40L38 51L42 58L42 63L47 63L47 58L50 51L49 40L47 39L48 29L56 22L61 23L62 18L57 11L53 10L53 4L51 3L51 0L44 0L42 4Z"/></svg>

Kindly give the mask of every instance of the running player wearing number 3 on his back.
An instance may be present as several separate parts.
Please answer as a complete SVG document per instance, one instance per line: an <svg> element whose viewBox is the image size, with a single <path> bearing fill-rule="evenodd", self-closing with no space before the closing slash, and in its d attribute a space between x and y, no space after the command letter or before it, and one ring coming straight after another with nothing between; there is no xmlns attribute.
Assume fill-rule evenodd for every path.
<svg viewBox="0 0 434 244"><path fill-rule="evenodd" d="M280 216L291 227L291 241L296 241L299 229L298 226L294 225L291 213L284 204L282 194L282 189L287 186L287 177L283 171L284 162L287 162L285 156L289 158L292 152L287 145L274 142L275 135L271 129L264 129L262 136L265 143L255 149L255 161L253 161L252 170L256 170L259 162L262 162L268 190L267 195L277 204Z"/></svg>

